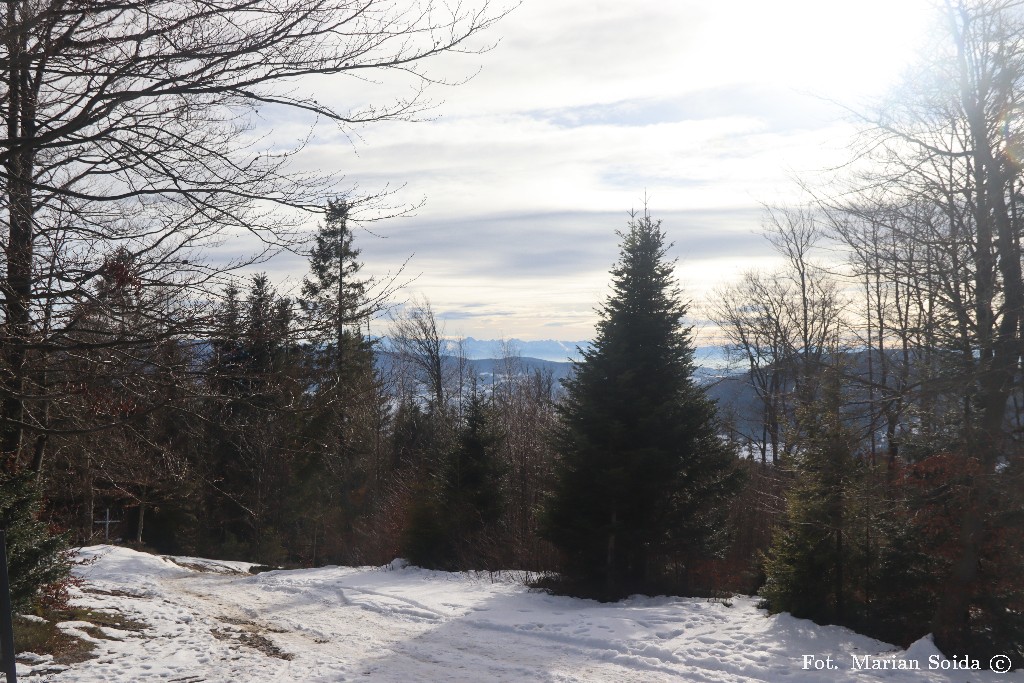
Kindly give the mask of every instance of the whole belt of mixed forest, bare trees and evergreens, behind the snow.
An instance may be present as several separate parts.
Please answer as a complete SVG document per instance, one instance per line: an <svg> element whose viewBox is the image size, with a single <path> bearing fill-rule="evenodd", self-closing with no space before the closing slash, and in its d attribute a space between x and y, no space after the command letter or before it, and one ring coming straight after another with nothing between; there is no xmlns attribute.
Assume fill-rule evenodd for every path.
<svg viewBox="0 0 1024 683"><path fill-rule="evenodd" d="M718 407L694 379L674 226L646 211L573 375L509 348L481 380L426 299L396 306L399 281L367 274L365 198L325 200L290 153L253 160L239 121L260 106L420 111L336 112L283 84L404 70L502 15L369 4L8 3L0 515L17 607L59 600L67 548L113 530L274 566L528 569L604 600L759 592L1024 666L1019 3L948 3L850 165L766 209L783 265L702 306L749 397ZM258 255L210 256L243 234ZM299 291L241 274L280 250L307 258ZM386 344L368 331L382 318Z"/></svg>

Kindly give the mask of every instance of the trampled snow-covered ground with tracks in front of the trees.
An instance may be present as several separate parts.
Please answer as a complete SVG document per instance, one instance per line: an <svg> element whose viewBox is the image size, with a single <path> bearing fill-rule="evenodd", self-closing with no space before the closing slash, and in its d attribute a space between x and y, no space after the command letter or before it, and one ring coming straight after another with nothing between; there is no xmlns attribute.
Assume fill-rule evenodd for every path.
<svg viewBox="0 0 1024 683"><path fill-rule="evenodd" d="M846 629L767 616L754 598L731 606L664 597L600 604L487 574L390 566L250 575L244 563L172 561L113 546L82 555L95 561L79 567L85 582L75 602L148 626L103 629L110 639L95 639L96 656L65 671L23 657L20 679L1024 683L1024 671L930 671L929 657L940 655L927 640L904 651ZM853 669L852 657L863 655L918 661L921 671Z"/></svg>

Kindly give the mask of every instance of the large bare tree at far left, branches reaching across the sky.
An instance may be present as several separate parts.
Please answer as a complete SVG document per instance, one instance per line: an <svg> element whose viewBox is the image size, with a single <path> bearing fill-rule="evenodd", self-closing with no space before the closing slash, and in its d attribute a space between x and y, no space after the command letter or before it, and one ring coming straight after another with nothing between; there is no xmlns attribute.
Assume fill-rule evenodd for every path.
<svg viewBox="0 0 1024 683"><path fill-rule="evenodd" d="M291 170L301 142L289 148L261 137L256 124L264 112L349 130L415 118L430 105L424 88L434 79L425 63L485 49L474 38L504 13L487 0L6 3L4 466L23 460L26 430L51 430L48 365L90 344L143 341L89 341L71 332L81 327L76 312L97 296L97 281L111 274L111 255L124 255L139 287L169 291L166 305L148 311L161 335L195 334L208 312L199 305L208 286L251 262L217 264L204 250L249 234L262 245L259 256L289 245L302 221L273 207L301 213L324 206L334 179ZM409 96L368 98L369 83L392 75L408 79ZM350 87L349 104L318 97L324 83Z"/></svg>

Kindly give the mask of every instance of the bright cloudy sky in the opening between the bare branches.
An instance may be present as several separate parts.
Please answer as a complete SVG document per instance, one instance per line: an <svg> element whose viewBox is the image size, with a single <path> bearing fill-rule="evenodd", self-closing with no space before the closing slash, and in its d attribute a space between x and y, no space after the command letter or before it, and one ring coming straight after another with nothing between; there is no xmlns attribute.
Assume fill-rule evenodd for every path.
<svg viewBox="0 0 1024 683"><path fill-rule="evenodd" d="M771 265L761 205L848 157L863 111L912 59L930 0L524 0L479 55L431 65L433 119L322 135L305 163L415 215L358 232L370 272L418 275L449 334L582 340L614 231L644 198L700 303ZM343 101L345 92L330 90ZM269 265L301 278L302 264Z"/></svg>

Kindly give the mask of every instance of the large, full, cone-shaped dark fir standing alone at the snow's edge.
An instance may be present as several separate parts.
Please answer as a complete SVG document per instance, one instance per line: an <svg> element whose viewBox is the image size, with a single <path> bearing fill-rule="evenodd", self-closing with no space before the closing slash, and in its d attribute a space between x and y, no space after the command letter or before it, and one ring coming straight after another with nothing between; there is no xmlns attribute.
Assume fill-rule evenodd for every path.
<svg viewBox="0 0 1024 683"><path fill-rule="evenodd" d="M715 407L693 381L686 304L660 222L634 215L620 237L597 338L559 407L545 528L564 556L566 587L606 599L691 590L687 570L716 545L738 483Z"/></svg>

